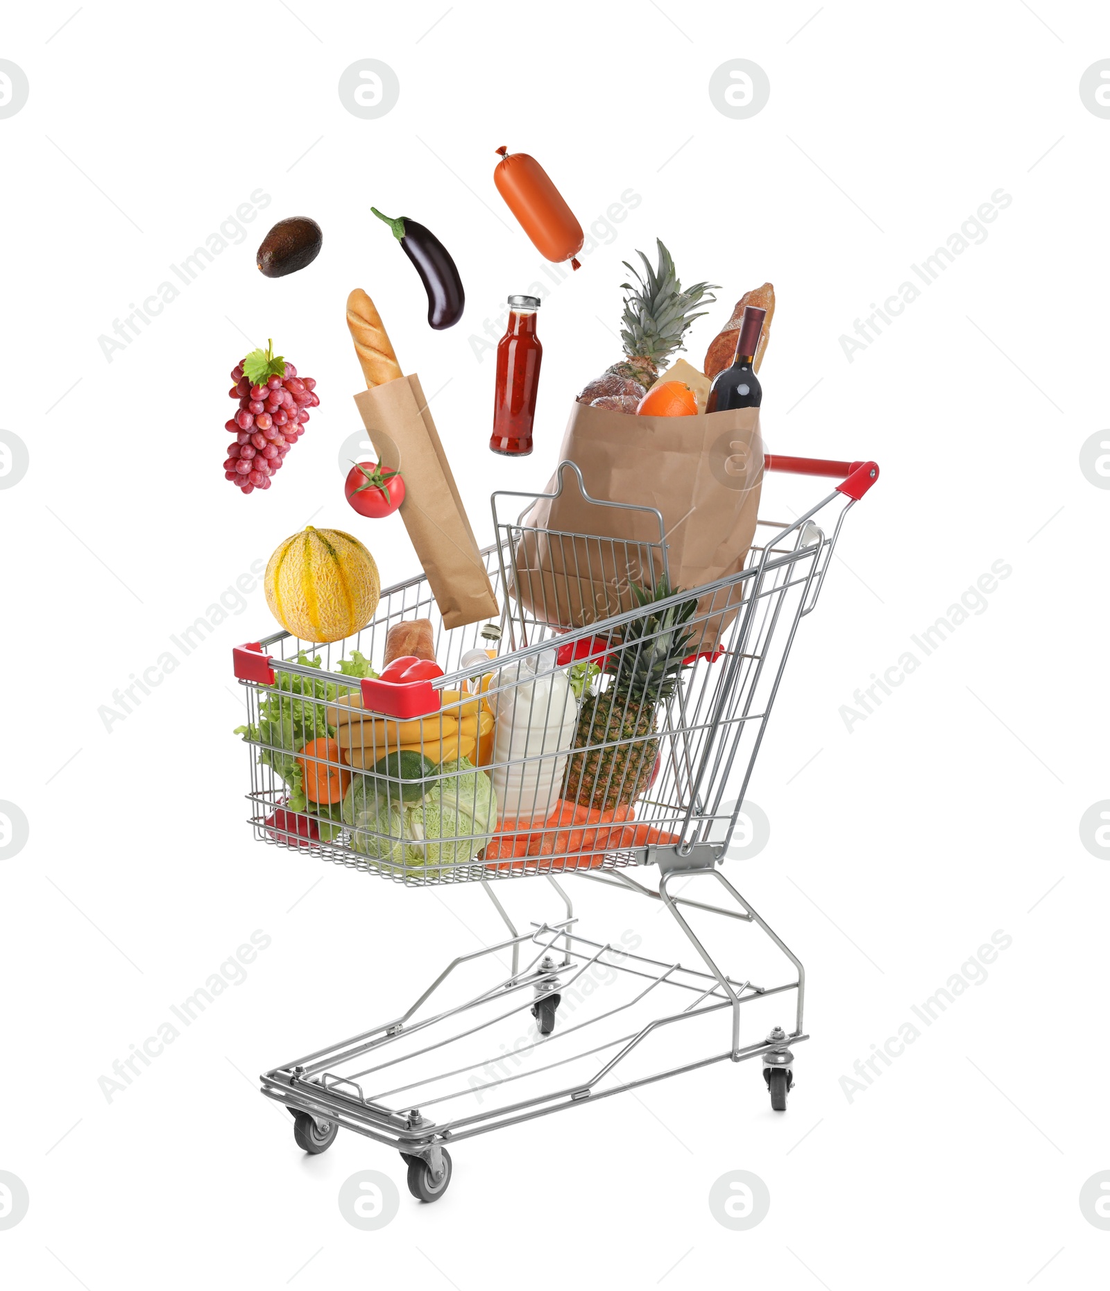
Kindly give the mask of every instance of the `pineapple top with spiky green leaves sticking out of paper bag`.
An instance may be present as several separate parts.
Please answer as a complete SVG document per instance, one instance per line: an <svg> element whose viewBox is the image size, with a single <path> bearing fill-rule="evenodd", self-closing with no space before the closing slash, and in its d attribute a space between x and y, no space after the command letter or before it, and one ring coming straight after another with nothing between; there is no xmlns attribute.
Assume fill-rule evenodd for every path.
<svg viewBox="0 0 1110 1291"><path fill-rule="evenodd" d="M638 250L644 262L644 274L625 261L625 269L636 279L635 284L622 283L625 310L621 315L621 341L625 358L607 368L600 377L589 382L578 395L578 403L592 403L605 396L641 399L658 378L660 367L676 351L684 350L683 337L694 319L705 310L691 312L697 305L711 305L716 284L696 283L683 290L675 272L671 253L656 239L660 262L652 269L648 257Z"/></svg>

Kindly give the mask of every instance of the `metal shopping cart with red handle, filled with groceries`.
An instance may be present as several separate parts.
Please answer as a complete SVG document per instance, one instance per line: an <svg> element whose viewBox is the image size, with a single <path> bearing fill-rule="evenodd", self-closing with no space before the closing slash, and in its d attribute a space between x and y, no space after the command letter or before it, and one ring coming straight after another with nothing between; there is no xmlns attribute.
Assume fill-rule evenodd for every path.
<svg viewBox="0 0 1110 1291"><path fill-rule="evenodd" d="M640 509L641 538L616 542L530 528L528 505L505 520L500 510L527 496L502 493L484 553L498 621L444 629L418 577L385 590L347 640L278 633L235 649L254 837L407 887L480 883L509 933L453 959L399 1016L261 1077L306 1152L324 1152L341 1127L392 1145L409 1190L430 1202L450 1181L448 1145L712 1062L760 1059L785 1110L791 1046L809 1038L805 973L719 866L798 625L879 471L780 454L764 466L842 483L792 522L760 520L767 537L758 531L742 572L705 586L671 587L653 509ZM560 466L564 487L586 492L573 463ZM560 578L609 587L617 612L568 629ZM444 676L352 675L365 660L381 666L392 625L419 617L435 625ZM632 866L656 866L657 886ZM567 874L660 902L697 959L640 953L634 930L586 937ZM547 879L561 910L519 927L500 884L529 875ZM694 880L719 884L724 904L694 900ZM759 927L787 980L728 973L692 927L706 917ZM790 991L790 1029L741 1034L755 1002Z"/></svg>

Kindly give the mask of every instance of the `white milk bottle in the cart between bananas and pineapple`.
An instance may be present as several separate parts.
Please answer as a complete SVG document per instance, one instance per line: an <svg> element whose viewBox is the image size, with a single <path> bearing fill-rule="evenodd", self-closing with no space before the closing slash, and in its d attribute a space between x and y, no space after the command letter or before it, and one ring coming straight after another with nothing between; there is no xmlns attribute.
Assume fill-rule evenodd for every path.
<svg viewBox="0 0 1110 1291"><path fill-rule="evenodd" d="M578 701L543 651L494 673L487 701L497 718L493 767L498 820L546 820L563 789L578 724Z"/></svg>

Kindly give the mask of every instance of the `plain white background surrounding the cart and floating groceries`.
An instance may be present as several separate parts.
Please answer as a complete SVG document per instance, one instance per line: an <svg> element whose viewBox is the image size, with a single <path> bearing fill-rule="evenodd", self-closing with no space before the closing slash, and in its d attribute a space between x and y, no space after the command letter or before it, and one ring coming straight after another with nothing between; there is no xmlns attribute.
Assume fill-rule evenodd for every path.
<svg viewBox="0 0 1110 1291"><path fill-rule="evenodd" d="M0 493L0 797L30 821L0 862L0 1170L31 1199L0 1232L0 1276L90 1291L740 1277L840 1291L936 1286L955 1263L963 1286L1093 1285L1110 1233L1078 1198L1110 1168L1110 870L1079 820L1107 797L1110 493L1079 451L1105 425L1110 120L1080 102L1079 77L1110 57L1110 13L292 8L303 22L281 3L89 4L70 22L70 5L25 5L0 39L31 88L0 120L3 425L31 458ZM337 94L367 57L400 80L378 120ZM771 80L749 120L707 94L729 58ZM492 182L502 143L541 160L583 226L625 190L643 199L541 309L537 449L523 461L487 452L493 363L469 341L542 265ZM176 281L170 262L257 188L272 203L241 244L106 361L112 320ZM998 188L1013 200L987 239L849 363L839 337L853 320L916 283L910 263ZM427 328L370 203L450 248L467 287L453 330ZM316 218L324 249L270 281L254 249L289 214ZM618 358L621 261L656 236L685 281L722 284L691 336L696 363L733 301L774 283L769 447L883 470L799 633L751 785L771 842L729 862L807 964L813 1039L785 1115L755 1064L718 1064L459 1145L447 1197L418 1206L398 1157L368 1140L303 1157L254 1078L391 1016L454 953L497 937L492 909L476 889L403 891L252 843L230 652L271 630L261 591L110 732L98 709L310 516L359 533L383 581L414 572L399 519L359 520L341 494L361 385L352 287L379 305L404 369L439 391L488 541L489 491L542 487L576 390ZM321 399L274 488L250 497L221 470L244 333L272 336ZM845 729L853 692L996 560L1013 573L989 608ZM521 918L556 913L545 884L511 887ZM605 936L663 922L578 889L583 924ZM248 980L106 1101L98 1077L258 928L272 945ZM1013 944L989 980L849 1101L852 1064L995 930ZM374 1233L337 1207L363 1168L401 1188ZM729 1170L771 1190L758 1228L710 1214Z"/></svg>

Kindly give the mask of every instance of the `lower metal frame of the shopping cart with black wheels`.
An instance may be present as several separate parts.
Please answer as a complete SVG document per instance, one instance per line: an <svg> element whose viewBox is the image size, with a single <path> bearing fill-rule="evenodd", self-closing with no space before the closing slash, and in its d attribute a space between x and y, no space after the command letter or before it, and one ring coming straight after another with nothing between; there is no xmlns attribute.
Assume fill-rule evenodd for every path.
<svg viewBox="0 0 1110 1291"><path fill-rule="evenodd" d="M707 875L711 875L724 888L727 896L731 897L728 905L715 905L693 900L688 896L674 893L670 889L678 878L693 880L703 879ZM547 877L547 882L565 904L567 917L550 923L533 924L528 932L518 932L493 889L489 884L483 884L497 913L506 922L511 933L510 937L453 959L427 990L400 1016L373 1026L338 1044L329 1046L328 1048L319 1050L266 1072L261 1078L262 1092L274 1101L287 1106L294 1114L294 1118L312 1118L320 1141L327 1139L324 1146L334 1139L337 1128L351 1130L355 1133L396 1148L409 1162L417 1161L423 1163L432 1179L443 1179L443 1149L449 1144L487 1133L490 1130L520 1124L554 1112L598 1103L614 1093L652 1084L672 1075L696 1072L700 1068L725 1060L742 1062L755 1057L762 1059L765 1079L772 1090L772 1103L777 1106L774 1099L777 1084L772 1084L769 1073L774 1069L782 1072L783 1075L776 1078L776 1082L782 1081L785 1082L785 1088L789 1088L792 1084L792 1052L790 1051L790 1044L809 1038L803 1032L805 970L800 959L712 864L670 870L661 866L658 889L653 889L632 879L623 870L586 873L578 877L594 883L636 892L644 897L660 901L670 911L691 946L697 951L702 967L688 968L680 962L667 963L666 961L654 959L644 954L614 949L613 942L598 942L583 937L577 931L578 920L574 918L570 897L563 886L550 875ZM786 957L795 970L795 979L777 985L759 985L727 973L693 931L680 908L755 924ZM417 1020L417 1015L423 1010L425 1004L450 980L456 970L476 961L489 961L490 957L502 955L506 951L512 957L510 971L492 986L463 999L461 1003ZM523 966L521 957L525 961ZM550 1003L554 1001L554 1004L550 1007L550 1022L554 1025L560 993L573 988L576 980L581 979L586 970L595 964L601 966L604 970L616 970L630 979L639 979L644 985L630 1002L616 1004L613 1008L603 1008L585 1021L578 1021L576 1017L570 1025L560 1032L552 1033L551 1026L549 1026L545 1034L543 1007L538 1002L547 999ZM663 988L667 988L671 994L684 991L692 995L692 998L685 1007L656 1013L649 1021L636 1026L627 1034L607 1041L596 1047L591 1047L587 1043L583 1050L568 1053L564 1046L561 1051L556 1050L559 1056L552 1061L523 1074L494 1075L488 1082L479 1081L475 1083L472 1073L483 1070L483 1068L488 1072L490 1066L489 1060L483 1062L479 1059L478 1061L465 1062L461 1066L450 1065L447 1072L422 1075L410 1083L387 1091L388 1095L412 1092L412 1103L408 1099L401 1101L394 1099L392 1103L386 1103L386 1095L367 1093L363 1087L367 1077L385 1068L401 1065L435 1051L443 1051L441 1056L449 1057L453 1048L461 1047L461 1043L474 1037L475 1033L492 1026L494 1022L505 1022L511 1015L523 1013L529 1008L540 1019L538 1030L542 1038L538 1041L537 1047L558 1044L570 1038L570 1035L581 1035L587 1028L604 1019L613 1017L632 1004L643 1002L647 997ZM765 1039L741 1044L742 1011L754 1001L790 991L795 993L794 1028L785 1032L776 1026ZM507 1011L500 1011L498 1004L505 1003L510 1007ZM479 1019L483 1010L490 1010L494 1013L493 1020L478 1020L472 1024L471 1011L475 1010L479 1011ZM692 1019L703 1017L709 1013L725 1013L729 1019L728 1043L722 1046L720 1039L718 1039L709 1052L703 1052L696 1059L647 1074L638 1074L603 1087L603 1081L613 1074L654 1032ZM419 1035L416 1051L413 1053L394 1056L392 1050L400 1046L403 1041L408 1041L414 1035ZM582 1038L586 1039L585 1035ZM356 1060L360 1059L369 1060L369 1068L343 1074L351 1066L358 1066L359 1062ZM561 1084L550 1092L480 1109L467 1115L427 1115L427 1112L434 1105L450 1103L452 1100L458 1101L463 1093L474 1093L475 1091L481 1093L484 1091L500 1090L518 1079L538 1077L542 1072L581 1062L587 1059L596 1059L592 1072L572 1083ZM507 1066L507 1064L502 1062L502 1066ZM421 1099L417 1092L421 1088L427 1090L435 1086L436 1082L461 1077L466 1073L471 1073L471 1081L466 1090L429 1096L427 1099ZM785 1088L781 1099L783 1108ZM778 1109L781 1110L782 1108ZM299 1135L298 1141L301 1141ZM323 1148L310 1148L308 1150L323 1150ZM417 1192L417 1189L413 1190ZM421 1193L417 1192L417 1195L421 1195ZM438 1194L432 1197L425 1195L423 1199L435 1199L435 1195Z"/></svg>

